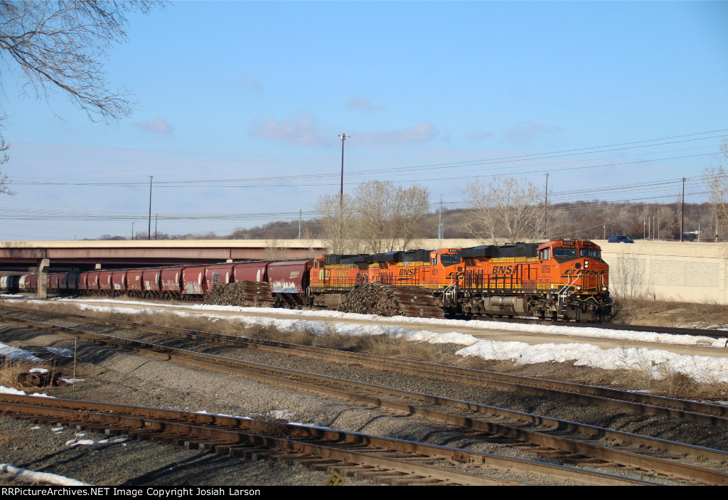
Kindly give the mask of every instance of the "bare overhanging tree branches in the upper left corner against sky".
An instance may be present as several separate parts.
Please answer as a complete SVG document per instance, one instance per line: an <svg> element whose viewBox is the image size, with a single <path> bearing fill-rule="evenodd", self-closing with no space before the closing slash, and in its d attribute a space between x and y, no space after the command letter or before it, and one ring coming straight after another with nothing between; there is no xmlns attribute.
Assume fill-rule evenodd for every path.
<svg viewBox="0 0 728 500"><path fill-rule="evenodd" d="M60 90L92 121L115 122L132 103L124 90L111 90L103 60L111 44L127 39L127 15L154 4L162 2L0 1L0 57L25 94L49 100ZM7 150L4 140L1 146ZM0 192L8 192L7 176L0 176Z"/></svg>

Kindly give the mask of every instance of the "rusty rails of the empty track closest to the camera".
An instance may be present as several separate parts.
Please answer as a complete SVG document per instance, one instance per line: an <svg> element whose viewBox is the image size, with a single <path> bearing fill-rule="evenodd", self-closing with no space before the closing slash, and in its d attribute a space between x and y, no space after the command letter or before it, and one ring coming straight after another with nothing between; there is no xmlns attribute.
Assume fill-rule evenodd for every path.
<svg viewBox="0 0 728 500"><path fill-rule="evenodd" d="M16 397L0 395L0 408L12 413L33 414L63 418L66 423L102 424L107 433L127 431L131 437L156 437L158 433L172 434L173 440L187 448L202 448L218 453L240 452L240 447L277 448L307 456L335 459L341 462L379 467L408 475L417 475L446 483L462 485L504 485L521 484L496 477L462 472L449 467L418 463L422 459L440 459L467 462L482 467L499 470L510 469L516 472L537 472L550 477L577 480L593 485L644 485L654 484L647 481L632 480L625 477L606 475L601 472L579 471L571 467L543 464L536 461L515 459L492 453L467 451L440 445L430 445L408 440L397 440L357 432L333 431L309 426L280 424L292 437L274 437L246 432L253 429L255 421L228 416L200 416L191 412L162 410L160 408L133 407L103 402L46 399L32 396ZM214 427L211 425L215 425ZM134 429L140 429L137 433ZM145 434L147 434L145 436ZM151 434L151 436L149 435ZM202 440L194 443L189 440ZM301 440L306 439L306 440ZM210 440L213 443L210 443ZM323 443L322 443L323 442ZM200 446L202 445L202 446ZM375 447L366 451L362 445ZM342 448L342 446L344 448ZM352 449L353 448L353 449ZM385 453L415 453L416 456L381 456ZM268 454L265 453L264 454ZM336 468L336 467L334 467ZM386 472L386 471L385 471Z"/></svg>

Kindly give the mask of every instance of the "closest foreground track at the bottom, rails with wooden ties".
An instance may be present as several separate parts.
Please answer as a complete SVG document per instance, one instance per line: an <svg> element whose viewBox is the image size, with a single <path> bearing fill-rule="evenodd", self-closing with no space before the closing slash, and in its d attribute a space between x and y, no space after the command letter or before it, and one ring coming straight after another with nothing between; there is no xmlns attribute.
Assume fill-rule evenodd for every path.
<svg viewBox="0 0 728 500"><path fill-rule="evenodd" d="M245 459L301 464L391 485L524 485L528 483L492 474L505 469L548 474L561 468L355 432L106 402L0 394L0 410L34 424L61 424ZM469 464L474 470L460 470L459 464ZM585 474L580 479L585 484L644 484L600 474Z"/></svg>

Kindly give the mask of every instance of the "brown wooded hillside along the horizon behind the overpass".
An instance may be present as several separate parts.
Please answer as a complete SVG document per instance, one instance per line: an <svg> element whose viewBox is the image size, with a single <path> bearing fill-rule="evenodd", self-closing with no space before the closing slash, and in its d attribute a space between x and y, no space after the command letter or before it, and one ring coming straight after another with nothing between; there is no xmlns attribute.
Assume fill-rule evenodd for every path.
<svg viewBox="0 0 728 500"><path fill-rule="evenodd" d="M345 196L346 198L346 196ZM331 201L331 200L330 200ZM336 197L338 206L338 197ZM543 205L537 205L542 210ZM632 239L651 237L652 239L676 240L680 238L680 204L668 203L631 203L631 204L609 204L598 200L592 202L571 202L558 203L548 206L549 225L547 232L539 227L532 228L531 233L510 234L495 232L496 242L541 240L549 238L579 238L579 239L603 239L615 234L625 234ZM493 240L488 234L473 231L477 210L472 208L443 210L443 238L475 238L483 244L492 243ZM427 211L416 219L409 231L407 245L417 239L436 239L438 237L438 221L440 214L437 211ZM728 226L724 223L727 220L724 215L719 214L719 241L728 241ZM329 238L325 238L325 230L328 223ZM353 226L353 227L352 227ZM350 233L361 231L360 226L352 224L344 230L344 236L349 237L349 246L342 246L344 253L388 251L397 249L403 244L400 237L397 241L391 238L385 239L379 246L365 242L363 239L352 236ZM384 226L384 224L380 225ZM397 223L391 224L392 230L396 230ZM716 210L715 205L705 203L685 204L684 231L702 231L702 241L715 241L716 235ZM333 233L333 234L332 234ZM301 221L302 239L324 239L332 248L336 248L338 226L336 219L326 221L325 219L314 219ZM391 233L390 233L391 234ZM136 236L135 236L136 238ZM687 239L688 237L686 237ZM697 237L696 237L697 238ZM104 234L98 239L124 240L130 239L126 236L114 236ZM147 239L146 231L139 231L138 239ZM154 233L152 234L154 239ZM217 235L213 232L189 233L189 234L167 234L157 233L157 239L298 239L298 221L274 221L255 226L252 228L236 228L230 234ZM396 239L396 238L395 238ZM372 250L372 248L374 250Z"/></svg>

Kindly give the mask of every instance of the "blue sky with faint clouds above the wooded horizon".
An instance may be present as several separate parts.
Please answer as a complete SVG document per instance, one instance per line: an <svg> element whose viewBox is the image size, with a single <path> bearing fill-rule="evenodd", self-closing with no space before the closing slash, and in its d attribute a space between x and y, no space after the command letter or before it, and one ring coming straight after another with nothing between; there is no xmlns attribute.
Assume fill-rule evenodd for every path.
<svg viewBox="0 0 728 500"><path fill-rule="evenodd" d="M2 67L17 194L0 239L146 231L149 175L170 234L311 218L339 191L341 132L345 191L421 183L462 207L476 176L549 172L553 202L673 202L678 183L651 184L681 177L704 201L700 175L725 164L726 26L721 1L168 4L109 52L138 103L117 124L19 95Z"/></svg>

